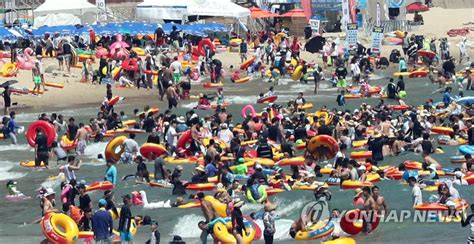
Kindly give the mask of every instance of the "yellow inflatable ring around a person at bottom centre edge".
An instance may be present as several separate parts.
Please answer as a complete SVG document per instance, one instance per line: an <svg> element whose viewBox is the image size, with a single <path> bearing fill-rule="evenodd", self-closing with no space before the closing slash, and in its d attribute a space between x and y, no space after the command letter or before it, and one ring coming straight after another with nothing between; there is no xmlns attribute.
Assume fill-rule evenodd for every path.
<svg viewBox="0 0 474 244"><path fill-rule="evenodd" d="M229 231L232 229L232 223L229 218L226 218L225 223L217 222L214 224L213 232L215 238L221 243L236 243L234 235ZM245 231L242 233L244 243L252 243L256 236L256 228L252 222L244 218ZM247 234L249 233L249 234Z"/></svg>

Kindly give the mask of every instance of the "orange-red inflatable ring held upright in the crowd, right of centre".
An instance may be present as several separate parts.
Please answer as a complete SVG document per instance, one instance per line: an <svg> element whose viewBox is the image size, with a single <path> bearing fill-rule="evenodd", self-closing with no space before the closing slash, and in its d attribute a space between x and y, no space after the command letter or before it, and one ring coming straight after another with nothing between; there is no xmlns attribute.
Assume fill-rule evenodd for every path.
<svg viewBox="0 0 474 244"><path fill-rule="evenodd" d="M318 135L306 143L306 150L313 154L316 159L326 157L332 159L339 151L336 139L328 135Z"/></svg>

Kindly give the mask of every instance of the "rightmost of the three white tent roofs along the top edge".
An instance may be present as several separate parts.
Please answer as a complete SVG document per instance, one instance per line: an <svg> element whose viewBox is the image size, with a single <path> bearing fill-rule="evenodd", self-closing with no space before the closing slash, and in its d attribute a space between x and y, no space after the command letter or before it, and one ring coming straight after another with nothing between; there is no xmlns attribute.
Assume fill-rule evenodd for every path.
<svg viewBox="0 0 474 244"><path fill-rule="evenodd" d="M230 0L190 0L188 16L244 18L250 16L248 8Z"/></svg>

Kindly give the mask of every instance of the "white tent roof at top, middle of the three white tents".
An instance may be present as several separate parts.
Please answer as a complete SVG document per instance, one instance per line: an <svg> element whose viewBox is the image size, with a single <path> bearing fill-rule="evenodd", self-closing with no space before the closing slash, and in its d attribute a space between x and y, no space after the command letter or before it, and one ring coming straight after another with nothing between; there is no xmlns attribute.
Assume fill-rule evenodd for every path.
<svg viewBox="0 0 474 244"><path fill-rule="evenodd" d="M144 20L179 20L187 15L186 0L145 0L137 5L137 18Z"/></svg>

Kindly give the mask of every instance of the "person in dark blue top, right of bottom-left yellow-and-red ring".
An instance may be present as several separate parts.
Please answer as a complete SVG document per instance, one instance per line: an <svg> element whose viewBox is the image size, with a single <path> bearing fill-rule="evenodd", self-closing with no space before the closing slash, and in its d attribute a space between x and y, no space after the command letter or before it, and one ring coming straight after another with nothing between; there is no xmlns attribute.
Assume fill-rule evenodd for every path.
<svg viewBox="0 0 474 244"><path fill-rule="evenodd" d="M96 243L109 243L112 237L113 220L112 215L106 209L107 201L99 200L99 209L92 216L92 232L94 232L94 240Z"/></svg>

